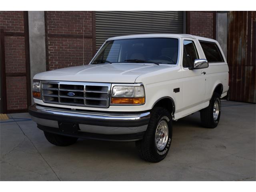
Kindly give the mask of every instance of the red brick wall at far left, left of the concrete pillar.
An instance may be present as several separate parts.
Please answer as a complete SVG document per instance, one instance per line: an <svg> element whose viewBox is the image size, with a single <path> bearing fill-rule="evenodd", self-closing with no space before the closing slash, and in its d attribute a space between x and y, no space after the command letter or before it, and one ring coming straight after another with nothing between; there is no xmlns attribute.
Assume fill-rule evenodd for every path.
<svg viewBox="0 0 256 192"><path fill-rule="evenodd" d="M10 33L4 35L7 110L26 110L26 76L20 76L20 73L30 75L26 74L24 12L1 11L0 28L4 32L16 33L16 36Z"/></svg>

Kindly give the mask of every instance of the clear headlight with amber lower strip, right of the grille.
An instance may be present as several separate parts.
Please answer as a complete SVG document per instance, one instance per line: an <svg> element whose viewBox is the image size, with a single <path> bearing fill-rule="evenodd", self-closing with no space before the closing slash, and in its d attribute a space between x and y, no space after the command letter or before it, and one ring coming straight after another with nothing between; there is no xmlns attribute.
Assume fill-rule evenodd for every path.
<svg viewBox="0 0 256 192"><path fill-rule="evenodd" d="M144 104L145 92L141 84L115 85L112 88L111 104Z"/></svg>

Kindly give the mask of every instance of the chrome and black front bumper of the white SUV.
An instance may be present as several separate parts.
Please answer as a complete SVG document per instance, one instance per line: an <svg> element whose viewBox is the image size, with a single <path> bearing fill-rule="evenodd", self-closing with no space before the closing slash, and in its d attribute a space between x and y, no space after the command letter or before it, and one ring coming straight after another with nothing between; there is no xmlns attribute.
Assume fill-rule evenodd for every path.
<svg viewBox="0 0 256 192"><path fill-rule="evenodd" d="M150 112L100 113L49 108L36 104L30 106L28 112L41 130L100 140L140 140L143 138L150 118ZM63 132L59 128L60 122L77 124L77 132Z"/></svg>

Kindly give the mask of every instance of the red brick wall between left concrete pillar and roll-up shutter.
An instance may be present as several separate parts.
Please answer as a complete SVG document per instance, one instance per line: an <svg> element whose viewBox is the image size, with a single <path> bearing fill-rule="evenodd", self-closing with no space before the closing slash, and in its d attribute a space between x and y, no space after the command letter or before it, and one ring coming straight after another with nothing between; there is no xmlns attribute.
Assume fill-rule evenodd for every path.
<svg viewBox="0 0 256 192"><path fill-rule="evenodd" d="M92 11L47 11L47 70L83 64L92 58ZM57 34L57 36L56 36Z"/></svg>

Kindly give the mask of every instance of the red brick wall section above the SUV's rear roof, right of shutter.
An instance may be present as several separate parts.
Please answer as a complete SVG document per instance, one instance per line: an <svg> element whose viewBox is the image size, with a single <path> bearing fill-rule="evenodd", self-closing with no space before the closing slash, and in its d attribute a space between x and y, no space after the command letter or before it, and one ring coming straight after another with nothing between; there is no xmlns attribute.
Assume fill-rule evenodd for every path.
<svg viewBox="0 0 256 192"><path fill-rule="evenodd" d="M215 38L214 14L215 12L189 11L188 17L188 34L202 36L206 38Z"/></svg>

